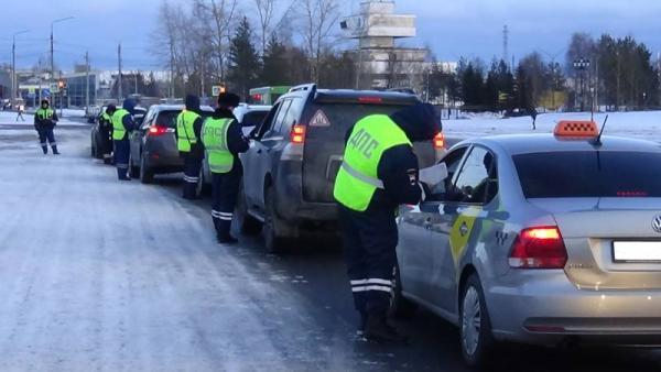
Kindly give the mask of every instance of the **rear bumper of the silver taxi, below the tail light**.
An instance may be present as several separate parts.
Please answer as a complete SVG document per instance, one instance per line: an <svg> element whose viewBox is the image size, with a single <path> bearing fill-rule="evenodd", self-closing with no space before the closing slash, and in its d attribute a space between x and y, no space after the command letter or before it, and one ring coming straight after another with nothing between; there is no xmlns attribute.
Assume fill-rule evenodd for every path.
<svg viewBox="0 0 661 372"><path fill-rule="evenodd" d="M511 275L524 284L492 286L485 293L497 339L661 344L661 292L578 289L563 271Z"/></svg>

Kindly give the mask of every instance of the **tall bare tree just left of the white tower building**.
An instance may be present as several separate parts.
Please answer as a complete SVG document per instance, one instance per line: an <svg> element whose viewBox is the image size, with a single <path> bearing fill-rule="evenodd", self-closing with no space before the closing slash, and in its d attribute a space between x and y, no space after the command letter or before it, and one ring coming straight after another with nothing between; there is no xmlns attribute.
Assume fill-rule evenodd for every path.
<svg viewBox="0 0 661 372"><path fill-rule="evenodd" d="M301 0L302 33L311 59L311 79L318 80L318 66L324 50L328 48L330 31L339 19L337 0Z"/></svg>

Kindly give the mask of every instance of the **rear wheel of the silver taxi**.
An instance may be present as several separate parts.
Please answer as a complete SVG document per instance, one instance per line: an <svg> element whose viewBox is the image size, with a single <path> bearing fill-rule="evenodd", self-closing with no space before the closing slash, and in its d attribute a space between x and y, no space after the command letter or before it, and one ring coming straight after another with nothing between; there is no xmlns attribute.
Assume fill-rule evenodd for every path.
<svg viewBox="0 0 661 372"><path fill-rule="evenodd" d="M464 361L472 368L485 365L494 344L483 286L473 274L464 284L459 299L459 347Z"/></svg>

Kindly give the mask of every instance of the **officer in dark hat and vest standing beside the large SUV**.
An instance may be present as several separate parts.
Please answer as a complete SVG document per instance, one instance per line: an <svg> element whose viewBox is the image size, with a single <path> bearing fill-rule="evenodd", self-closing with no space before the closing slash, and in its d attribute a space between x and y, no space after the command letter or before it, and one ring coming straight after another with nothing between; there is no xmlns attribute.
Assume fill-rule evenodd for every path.
<svg viewBox="0 0 661 372"><path fill-rule="evenodd" d="M239 153L248 151L250 141L243 136L241 125L232 110L239 106L239 96L220 94L218 108L207 118L202 130L202 142L213 176L214 206L212 217L218 243L236 243L230 234L231 219L237 204L243 166Z"/></svg>

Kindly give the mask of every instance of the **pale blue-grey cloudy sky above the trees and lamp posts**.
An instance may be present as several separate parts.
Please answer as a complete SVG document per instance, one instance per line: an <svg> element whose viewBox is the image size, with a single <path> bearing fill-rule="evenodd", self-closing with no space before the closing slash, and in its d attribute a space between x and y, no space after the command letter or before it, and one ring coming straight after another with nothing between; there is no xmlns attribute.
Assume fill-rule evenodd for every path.
<svg viewBox="0 0 661 372"><path fill-rule="evenodd" d="M185 0L178 0L186 2ZM280 0L286 3L289 0ZM340 0L347 9L359 0ZM117 43L122 42L127 69L159 69L162 63L148 48L161 0L4 0L0 14L0 63L11 62L11 35L17 37L18 65L34 65L46 56L51 20L55 24L55 59L65 69L89 50L93 66L115 68ZM250 0L240 0L249 3ZM55 6L56 3L56 6ZM248 6L243 6L246 10ZM660 0L399 0L399 12L418 15L418 37L408 45L431 46L440 61L502 54L502 26L510 29L510 53L561 53L574 31L595 36L608 32L633 35L661 52ZM43 20L43 22L40 22Z"/></svg>

